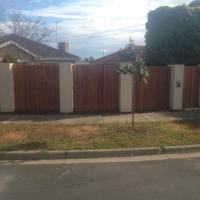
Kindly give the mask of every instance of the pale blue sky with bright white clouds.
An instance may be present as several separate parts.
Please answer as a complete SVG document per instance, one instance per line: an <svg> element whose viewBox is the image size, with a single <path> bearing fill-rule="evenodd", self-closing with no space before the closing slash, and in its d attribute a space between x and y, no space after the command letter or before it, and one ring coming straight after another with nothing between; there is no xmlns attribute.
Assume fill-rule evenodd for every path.
<svg viewBox="0 0 200 200"><path fill-rule="evenodd" d="M131 37L145 44L148 12L159 6L191 0L0 0L4 9L21 11L56 30L48 45L68 41L70 52L82 58L102 57L123 48Z"/></svg>

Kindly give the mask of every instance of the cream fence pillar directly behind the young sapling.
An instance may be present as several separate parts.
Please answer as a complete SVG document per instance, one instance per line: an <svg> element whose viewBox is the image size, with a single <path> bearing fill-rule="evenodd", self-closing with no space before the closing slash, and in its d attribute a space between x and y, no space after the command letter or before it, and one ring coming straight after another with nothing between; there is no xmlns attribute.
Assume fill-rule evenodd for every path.
<svg viewBox="0 0 200 200"><path fill-rule="evenodd" d="M131 75L120 74L120 112L128 113L132 111L133 84Z"/></svg>

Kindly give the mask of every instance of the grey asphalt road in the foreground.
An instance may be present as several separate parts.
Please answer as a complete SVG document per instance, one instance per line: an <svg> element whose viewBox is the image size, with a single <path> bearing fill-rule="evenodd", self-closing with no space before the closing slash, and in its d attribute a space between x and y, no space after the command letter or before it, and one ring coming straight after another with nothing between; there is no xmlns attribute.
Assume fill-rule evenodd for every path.
<svg viewBox="0 0 200 200"><path fill-rule="evenodd" d="M200 199L200 154L157 158L0 162L0 199Z"/></svg>

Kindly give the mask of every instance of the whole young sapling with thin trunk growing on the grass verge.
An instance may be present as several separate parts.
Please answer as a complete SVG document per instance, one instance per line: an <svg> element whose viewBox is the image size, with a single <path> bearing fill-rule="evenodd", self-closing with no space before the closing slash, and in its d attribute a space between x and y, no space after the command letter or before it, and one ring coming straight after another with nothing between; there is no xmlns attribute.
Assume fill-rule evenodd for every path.
<svg viewBox="0 0 200 200"><path fill-rule="evenodd" d="M133 82L133 96L132 96L132 128L135 128L135 83L142 81L147 84L147 77L149 76L148 70L145 66L143 55L140 49L136 49L134 41L130 40L126 45L124 51L121 51L123 60L127 60L127 64L123 64L117 68L118 73L124 75L131 75Z"/></svg>

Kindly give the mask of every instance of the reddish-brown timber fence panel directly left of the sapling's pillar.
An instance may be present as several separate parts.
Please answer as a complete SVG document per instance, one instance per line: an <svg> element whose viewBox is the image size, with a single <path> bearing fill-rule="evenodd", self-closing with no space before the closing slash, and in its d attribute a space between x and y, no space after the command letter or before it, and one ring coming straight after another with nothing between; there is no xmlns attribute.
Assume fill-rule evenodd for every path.
<svg viewBox="0 0 200 200"><path fill-rule="evenodd" d="M119 112L116 65L74 65L74 112Z"/></svg>

